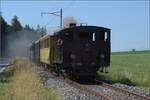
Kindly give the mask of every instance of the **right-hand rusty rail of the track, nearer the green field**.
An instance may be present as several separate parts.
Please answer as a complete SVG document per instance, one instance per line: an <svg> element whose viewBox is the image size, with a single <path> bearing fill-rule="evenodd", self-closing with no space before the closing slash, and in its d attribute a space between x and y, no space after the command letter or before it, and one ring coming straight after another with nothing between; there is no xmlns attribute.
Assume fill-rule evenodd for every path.
<svg viewBox="0 0 150 100"><path fill-rule="evenodd" d="M106 87L106 88L113 89L115 91L124 93L124 94L128 95L129 97L130 96L134 96L134 97L139 98L140 100L150 100L150 97L146 97L146 96L137 94L135 92L131 92L131 91L127 90L127 89L118 88L118 87L115 87L115 86L113 86L111 84L108 84L108 83L105 83L105 82L102 82L102 81L99 81L99 80L96 80L96 81L101 83L100 86L103 86L103 87Z"/></svg>

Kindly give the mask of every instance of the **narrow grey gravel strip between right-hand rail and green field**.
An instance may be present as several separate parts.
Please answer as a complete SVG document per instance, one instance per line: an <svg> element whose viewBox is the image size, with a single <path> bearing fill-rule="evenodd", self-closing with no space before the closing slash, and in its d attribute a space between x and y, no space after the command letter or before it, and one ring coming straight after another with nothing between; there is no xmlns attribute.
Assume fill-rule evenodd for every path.
<svg viewBox="0 0 150 100"><path fill-rule="evenodd" d="M123 88L123 89L127 89L128 91L146 96L150 98L150 89L146 89L143 87L137 87L137 86L128 86L125 84L120 84L120 83L115 83L113 84L113 86L119 87L119 88Z"/></svg>

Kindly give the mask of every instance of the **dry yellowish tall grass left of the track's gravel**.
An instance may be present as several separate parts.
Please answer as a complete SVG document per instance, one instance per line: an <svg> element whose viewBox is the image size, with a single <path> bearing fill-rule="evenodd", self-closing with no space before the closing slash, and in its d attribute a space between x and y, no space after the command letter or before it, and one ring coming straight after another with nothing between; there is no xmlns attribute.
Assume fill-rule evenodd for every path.
<svg viewBox="0 0 150 100"><path fill-rule="evenodd" d="M0 100L59 100L59 96L51 87L44 88L36 67L17 59L0 76Z"/></svg>

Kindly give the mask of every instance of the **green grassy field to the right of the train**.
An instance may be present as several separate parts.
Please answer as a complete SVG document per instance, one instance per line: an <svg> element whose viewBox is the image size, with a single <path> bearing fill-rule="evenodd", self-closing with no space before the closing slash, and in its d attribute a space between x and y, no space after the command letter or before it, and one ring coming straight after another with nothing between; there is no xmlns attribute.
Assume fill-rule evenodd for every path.
<svg viewBox="0 0 150 100"><path fill-rule="evenodd" d="M150 51L112 53L109 73L98 74L114 82L150 88Z"/></svg>

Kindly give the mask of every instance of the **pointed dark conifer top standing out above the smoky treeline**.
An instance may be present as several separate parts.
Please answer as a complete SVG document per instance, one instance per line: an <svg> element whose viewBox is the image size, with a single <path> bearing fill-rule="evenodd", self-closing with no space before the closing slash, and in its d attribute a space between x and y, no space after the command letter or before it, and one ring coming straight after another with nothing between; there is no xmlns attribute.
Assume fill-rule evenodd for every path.
<svg viewBox="0 0 150 100"><path fill-rule="evenodd" d="M23 29L22 26L21 26L21 23L18 20L17 16L13 17L11 24L12 24L13 31L20 31L20 30Z"/></svg>

